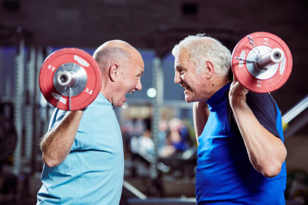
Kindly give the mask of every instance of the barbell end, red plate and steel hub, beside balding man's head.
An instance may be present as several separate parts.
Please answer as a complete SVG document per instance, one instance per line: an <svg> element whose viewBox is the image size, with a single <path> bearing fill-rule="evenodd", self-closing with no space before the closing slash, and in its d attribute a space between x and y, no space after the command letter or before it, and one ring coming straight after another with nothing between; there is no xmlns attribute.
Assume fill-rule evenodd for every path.
<svg viewBox="0 0 308 205"><path fill-rule="evenodd" d="M39 74L44 98L62 110L80 110L95 100L101 90L98 63L78 48L63 48L50 54Z"/></svg>

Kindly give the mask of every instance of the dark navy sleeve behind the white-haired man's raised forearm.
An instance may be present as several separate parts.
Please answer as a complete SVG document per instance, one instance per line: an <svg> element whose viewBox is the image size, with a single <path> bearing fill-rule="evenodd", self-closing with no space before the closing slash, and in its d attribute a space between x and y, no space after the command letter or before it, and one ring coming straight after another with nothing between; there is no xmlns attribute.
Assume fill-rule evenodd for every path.
<svg viewBox="0 0 308 205"><path fill-rule="evenodd" d="M264 128L267 129L270 133L281 139L281 136L279 135L276 127L277 112L279 112L279 110L277 110L276 102L270 96L270 94L254 93L249 91L246 95L246 102L252 110L253 114L256 116L259 123L264 126ZM236 135L241 136L229 101L227 102L227 115L231 129Z"/></svg>

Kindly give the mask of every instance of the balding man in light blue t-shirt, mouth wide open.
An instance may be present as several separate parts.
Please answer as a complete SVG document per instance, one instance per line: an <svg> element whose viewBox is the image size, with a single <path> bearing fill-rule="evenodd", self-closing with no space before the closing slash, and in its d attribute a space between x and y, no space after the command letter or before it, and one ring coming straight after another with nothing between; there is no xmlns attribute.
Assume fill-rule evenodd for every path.
<svg viewBox="0 0 308 205"><path fill-rule="evenodd" d="M122 136L112 107L141 90L144 62L125 41L108 41L93 54L102 87L84 111L55 109L41 149L44 167L37 205L118 205L122 193Z"/></svg>

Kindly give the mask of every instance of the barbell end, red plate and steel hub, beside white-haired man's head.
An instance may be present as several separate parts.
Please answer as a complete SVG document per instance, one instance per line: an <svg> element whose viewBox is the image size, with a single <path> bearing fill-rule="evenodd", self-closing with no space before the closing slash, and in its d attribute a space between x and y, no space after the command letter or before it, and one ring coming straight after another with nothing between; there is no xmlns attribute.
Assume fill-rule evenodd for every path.
<svg viewBox="0 0 308 205"><path fill-rule="evenodd" d="M255 32L237 43L232 52L231 67L245 88L268 93L285 84L292 63L291 51L282 39L271 33Z"/></svg>

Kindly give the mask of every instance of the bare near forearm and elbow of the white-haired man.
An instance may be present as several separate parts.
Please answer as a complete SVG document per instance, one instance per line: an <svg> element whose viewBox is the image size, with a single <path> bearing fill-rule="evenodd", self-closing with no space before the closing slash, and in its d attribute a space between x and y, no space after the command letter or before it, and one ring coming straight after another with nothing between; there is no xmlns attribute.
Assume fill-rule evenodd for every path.
<svg viewBox="0 0 308 205"><path fill-rule="evenodd" d="M230 105L253 167L265 177L278 175L286 159L284 143L258 122L245 101Z"/></svg>

